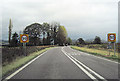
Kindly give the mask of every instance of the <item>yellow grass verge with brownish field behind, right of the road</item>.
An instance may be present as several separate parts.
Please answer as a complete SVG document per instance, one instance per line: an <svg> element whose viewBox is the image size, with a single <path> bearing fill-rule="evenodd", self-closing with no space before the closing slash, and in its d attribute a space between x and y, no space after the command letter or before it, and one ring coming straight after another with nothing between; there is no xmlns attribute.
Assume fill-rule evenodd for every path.
<svg viewBox="0 0 120 81"><path fill-rule="evenodd" d="M107 49L107 44L97 45L97 44L91 44L91 45L85 45L85 46L71 46L71 48L87 52L93 55L102 56L108 59L112 59L115 61L120 60L118 50L116 50L116 53L114 55L114 49Z"/></svg>

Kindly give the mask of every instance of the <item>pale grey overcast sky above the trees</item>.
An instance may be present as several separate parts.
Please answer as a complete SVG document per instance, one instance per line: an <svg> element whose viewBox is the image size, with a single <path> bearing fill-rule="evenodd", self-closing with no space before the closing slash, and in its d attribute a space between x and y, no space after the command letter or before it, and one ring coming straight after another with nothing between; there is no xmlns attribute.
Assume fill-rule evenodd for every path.
<svg viewBox="0 0 120 81"><path fill-rule="evenodd" d="M12 33L38 22L57 21L72 39L106 40L109 32L118 33L119 0L3 0L2 38L8 39L9 19ZM1 19L0 19L1 21Z"/></svg>

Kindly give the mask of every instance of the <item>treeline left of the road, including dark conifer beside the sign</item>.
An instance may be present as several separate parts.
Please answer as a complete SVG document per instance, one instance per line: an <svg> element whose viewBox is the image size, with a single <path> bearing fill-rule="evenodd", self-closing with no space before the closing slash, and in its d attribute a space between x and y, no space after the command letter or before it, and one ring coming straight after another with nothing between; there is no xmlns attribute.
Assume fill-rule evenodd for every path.
<svg viewBox="0 0 120 81"><path fill-rule="evenodd" d="M57 22L52 23L33 23L23 30L23 34L29 35L29 46L38 45L65 45L71 44L72 40L68 37L64 26ZM19 35L15 32L10 42L11 46L19 46Z"/></svg>

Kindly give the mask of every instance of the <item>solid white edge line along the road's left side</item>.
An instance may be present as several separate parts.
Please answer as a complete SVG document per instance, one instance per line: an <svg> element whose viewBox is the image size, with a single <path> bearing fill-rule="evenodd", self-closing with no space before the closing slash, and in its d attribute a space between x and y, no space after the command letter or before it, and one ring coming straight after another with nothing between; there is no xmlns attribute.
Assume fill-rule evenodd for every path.
<svg viewBox="0 0 120 81"><path fill-rule="evenodd" d="M46 51L47 52L47 51ZM28 65L30 65L32 62L34 62L35 60L37 60L39 57L41 57L43 54L45 54L46 52L40 54L39 56L37 56L36 58L34 58L33 60L31 60L30 62L28 62L27 64L25 64L23 67L21 67L20 69L18 69L17 71L15 71L14 73L12 73L10 76L8 76L6 79L11 79L13 76L15 76L17 73L19 73L20 71L22 71L24 68L26 68Z"/></svg>

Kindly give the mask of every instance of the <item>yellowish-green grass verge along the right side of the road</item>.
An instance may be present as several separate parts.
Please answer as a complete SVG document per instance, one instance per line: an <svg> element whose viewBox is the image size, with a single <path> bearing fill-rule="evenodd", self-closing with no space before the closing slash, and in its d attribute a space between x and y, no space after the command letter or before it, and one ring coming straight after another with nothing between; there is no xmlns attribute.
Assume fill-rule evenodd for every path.
<svg viewBox="0 0 120 81"><path fill-rule="evenodd" d="M116 52L116 55L114 56L114 52L110 52L110 55L109 55L108 50L99 50L94 48L78 47L78 46L71 46L71 48L82 51L82 52L90 53L93 55L102 56L108 59L113 59L115 61L120 61L118 52Z"/></svg>

